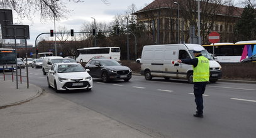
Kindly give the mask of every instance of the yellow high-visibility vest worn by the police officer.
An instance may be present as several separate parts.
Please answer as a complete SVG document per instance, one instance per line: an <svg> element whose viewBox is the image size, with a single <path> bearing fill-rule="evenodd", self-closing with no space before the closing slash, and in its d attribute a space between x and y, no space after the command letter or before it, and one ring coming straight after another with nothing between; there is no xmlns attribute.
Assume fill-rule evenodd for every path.
<svg viewBox="0 0 256 138"><path fill-rule="evenodd" d="M198 65L193 66L193 82L208 82L209 81L209 60L204 56L198 58Z"/></svg>

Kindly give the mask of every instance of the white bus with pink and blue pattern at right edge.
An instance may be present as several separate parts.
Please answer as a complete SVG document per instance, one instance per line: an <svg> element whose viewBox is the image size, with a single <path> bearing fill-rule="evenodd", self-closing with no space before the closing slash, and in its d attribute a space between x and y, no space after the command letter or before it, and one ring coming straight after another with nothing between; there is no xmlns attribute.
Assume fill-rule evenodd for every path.
<svg viewBox="0 0 256 138"><path fill-rule="evenodd" d="M213 53L213 45L203 45ZM237 43L214 44L214 56L220 63L239 63L243 59L256 54L256 41L238 41Z"/></svg>

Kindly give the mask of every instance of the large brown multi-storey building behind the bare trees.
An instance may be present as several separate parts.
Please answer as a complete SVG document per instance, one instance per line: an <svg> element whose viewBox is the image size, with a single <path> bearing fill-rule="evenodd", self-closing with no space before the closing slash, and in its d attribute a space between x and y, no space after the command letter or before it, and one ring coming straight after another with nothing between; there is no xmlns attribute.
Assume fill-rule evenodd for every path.
<svg viewBox="0 0 256 138"><path fill-rule="evenodd" d="M233 42L233 29L243 9L200 2L201 40L208 44L211 31L220 33L220 42ZM197 38L198 1L155 0L136 11L136 19L147 26L148 35L156 44L189 43ZM179 18L178 18L179 17Z"/></svg>

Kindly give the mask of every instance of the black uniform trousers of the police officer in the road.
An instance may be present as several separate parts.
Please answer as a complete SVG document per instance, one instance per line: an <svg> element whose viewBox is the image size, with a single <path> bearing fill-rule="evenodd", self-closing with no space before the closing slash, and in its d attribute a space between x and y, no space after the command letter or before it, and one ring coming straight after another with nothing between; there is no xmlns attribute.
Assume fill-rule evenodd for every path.
<svg viewBox="0 0 256 138"><path fill-rule="evenodd" d="M196 109L198 114L203 114L203 94L207 82L194 82L194 96L196 102Z"/></svg>

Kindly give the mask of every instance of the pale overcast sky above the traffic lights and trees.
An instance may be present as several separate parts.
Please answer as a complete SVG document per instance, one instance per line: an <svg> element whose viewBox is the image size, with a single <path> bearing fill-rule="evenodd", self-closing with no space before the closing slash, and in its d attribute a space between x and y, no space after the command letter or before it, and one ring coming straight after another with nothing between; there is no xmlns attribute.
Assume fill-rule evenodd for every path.
<svg viewBox="0 0 256 138"><path fill-rule="evenodd" d="M74 29L77 32L81 30L82 23L86 21L94 22L94 19L91 19L91 17L95 18L96 22L109 23L113 21L114 16L125 14L125 11L128 10L128 6L131 6L131 4L135 4L137 10L140 10L145 7L145 4L152 3L153 0L108 0L109 4L104 4L101 0L84 0L83 3L64 1L67 1L67 8L72 11L70 14L67 14L67 19L56 21L56 29L58 26L65 26L68 30ZM48 33L50 29L54 29L53 21L41 21L39 14L35 14L33 21L18 21L17 15L13 12L13 23L30 26L30 40L28 40L28 44L34 46L35 38L38 34ZM43 35L47 36L46 34Z"/></svg>

